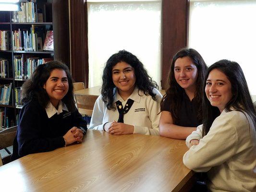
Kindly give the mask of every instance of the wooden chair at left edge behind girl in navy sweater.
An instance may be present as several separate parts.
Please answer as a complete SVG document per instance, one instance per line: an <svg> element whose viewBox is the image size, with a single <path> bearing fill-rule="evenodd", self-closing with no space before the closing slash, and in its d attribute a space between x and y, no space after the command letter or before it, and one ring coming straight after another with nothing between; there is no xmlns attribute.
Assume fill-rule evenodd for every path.
<svg viewBox="0 0 256 192"><path fill-rule="evenodd" d="M8 153L8 156L5 156L3 159L0 155L0 166L11 162L12 153L7 149L7 147L12 146L13 140L16 136L17 126L11 127L9 129L0 131L0 150L5 149Z"/></svg>

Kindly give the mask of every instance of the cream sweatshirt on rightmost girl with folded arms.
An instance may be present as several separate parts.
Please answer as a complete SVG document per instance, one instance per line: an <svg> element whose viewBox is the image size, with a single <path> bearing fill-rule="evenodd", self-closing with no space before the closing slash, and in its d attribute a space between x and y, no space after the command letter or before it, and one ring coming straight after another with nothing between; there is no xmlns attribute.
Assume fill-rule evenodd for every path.
<svg viewBox="0 0 256 192"><path fill-rule="evenodd" d="M207 172L207 187L213 192L256 192L256 128L240 111L223 112L206 136L202 125L186 139L199 140L183 156L187 168Z"/></svg>

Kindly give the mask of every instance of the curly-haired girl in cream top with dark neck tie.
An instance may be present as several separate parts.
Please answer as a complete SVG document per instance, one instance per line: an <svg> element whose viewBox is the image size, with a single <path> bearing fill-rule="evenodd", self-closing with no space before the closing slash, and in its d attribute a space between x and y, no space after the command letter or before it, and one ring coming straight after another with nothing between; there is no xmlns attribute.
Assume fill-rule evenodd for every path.
<svg viewBox="0 0 256 192"><path fill-rule="evenodd" d="M132 53L121 50L106 63L89 129L110 134L159 134L158 85Z"/></svg>

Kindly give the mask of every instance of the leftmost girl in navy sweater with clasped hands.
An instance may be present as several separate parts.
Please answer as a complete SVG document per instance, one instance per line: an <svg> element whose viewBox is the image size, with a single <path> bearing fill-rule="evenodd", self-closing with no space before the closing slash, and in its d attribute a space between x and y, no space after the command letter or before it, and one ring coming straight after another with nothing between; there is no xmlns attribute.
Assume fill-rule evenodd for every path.
<svg viewBox="0 0 256 192"><path fill-rule="evenodd" d="M38 65L22 90L23 108L12 160L82 141L86 122L75 107L72 76L66 65L58 61Z"/></svg>

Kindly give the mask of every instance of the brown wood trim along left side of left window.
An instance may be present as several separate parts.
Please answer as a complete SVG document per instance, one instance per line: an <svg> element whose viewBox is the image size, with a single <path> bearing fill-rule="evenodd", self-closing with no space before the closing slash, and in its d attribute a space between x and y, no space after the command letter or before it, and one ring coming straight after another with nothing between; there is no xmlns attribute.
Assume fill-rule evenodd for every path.
<svg viewBox="0 0 256 192"><path fill-rule="evenodd" d="M70 0L71 70L75 82L88 87L88 37L86 0Z"/></svg>

